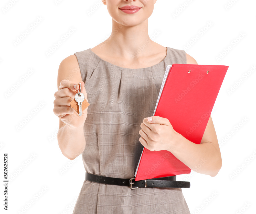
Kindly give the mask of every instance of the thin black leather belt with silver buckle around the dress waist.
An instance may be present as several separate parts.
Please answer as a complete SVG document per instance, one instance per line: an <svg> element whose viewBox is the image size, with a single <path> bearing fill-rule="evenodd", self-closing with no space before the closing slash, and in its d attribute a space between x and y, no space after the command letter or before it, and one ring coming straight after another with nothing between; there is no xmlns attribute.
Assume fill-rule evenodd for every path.
<svg viewBox="0 0 256 214"><path fill-rule="evenodd" d="M176 181L176 175L170 177L158 177L147 180L133 181L135 178L122 179L114 177L105 177L100 175L93 175L85 173L85 180L93 181L102 184L112 184L120 186L129 186L131 189L138 187L173 187L173 188L189 188L189 181Z"/></svg>

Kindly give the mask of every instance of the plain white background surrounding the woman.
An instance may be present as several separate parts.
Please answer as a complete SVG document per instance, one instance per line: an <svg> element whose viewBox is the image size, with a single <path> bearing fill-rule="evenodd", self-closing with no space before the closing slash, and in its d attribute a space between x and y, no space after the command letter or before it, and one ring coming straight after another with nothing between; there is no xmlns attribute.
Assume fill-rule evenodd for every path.
<svg viewBox="0 0 256 214"><path fill-rule="evenodd" d="M67 56L106 40L112 20L99 0L11 2L0 3L1 183L4 153L9 176L8 211L3 213L72 213L85 170L81 155L71 161L58 146L58 117L53 113L58 67ZM148 34L155 42L185 50L198 64L229 66L211 114L222 168L215 177L193 171L177 176L191 183L183 189L191 213L255 213L255 7L254 0L157 0L148 20ZM207 28L208 22L212 25ZM70 28L74 32L63 41ZM29 33L17 42L26 30ZM59 41L62 44L47 56Z"/></svg>

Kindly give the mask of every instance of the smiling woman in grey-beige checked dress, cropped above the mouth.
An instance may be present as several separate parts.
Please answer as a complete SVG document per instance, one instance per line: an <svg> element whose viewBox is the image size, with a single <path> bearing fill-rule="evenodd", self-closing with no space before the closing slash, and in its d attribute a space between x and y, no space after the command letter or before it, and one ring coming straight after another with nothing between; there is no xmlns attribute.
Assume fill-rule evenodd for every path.
<svg viewBox="0 0 256 214"><path fill-rule="evenodd" d="M59 147L70 160L82 154L86 172L98 176L98 181L84 180L73 214L190 213L181 188L131 189L102 179L133 178L143 146L169 150L198 173L216 176L221 168L211 117L201 144L194 144L166 118L152 116L166 66L197 64L185 51L149 38L148 18L156 0L102 2L112 17L111 36L65 58L58 71L54 113L59 117ZM69 106L78 82L90 103L82 116Z"/></svg>

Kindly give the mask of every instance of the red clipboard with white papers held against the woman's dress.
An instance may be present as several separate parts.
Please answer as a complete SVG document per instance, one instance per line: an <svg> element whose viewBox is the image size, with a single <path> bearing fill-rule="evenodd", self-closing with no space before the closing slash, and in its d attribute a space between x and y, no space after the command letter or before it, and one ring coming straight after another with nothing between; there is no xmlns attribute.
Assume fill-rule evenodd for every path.
<svg viewBox="0 0 256 214"><path fill-rule="evenodd" d="M176 132L200 144L228 67L168 65L154 115L167 118ZM190 172L191 169L171 152L150 151L144 147L135 172L135 181Z"/></svg>

